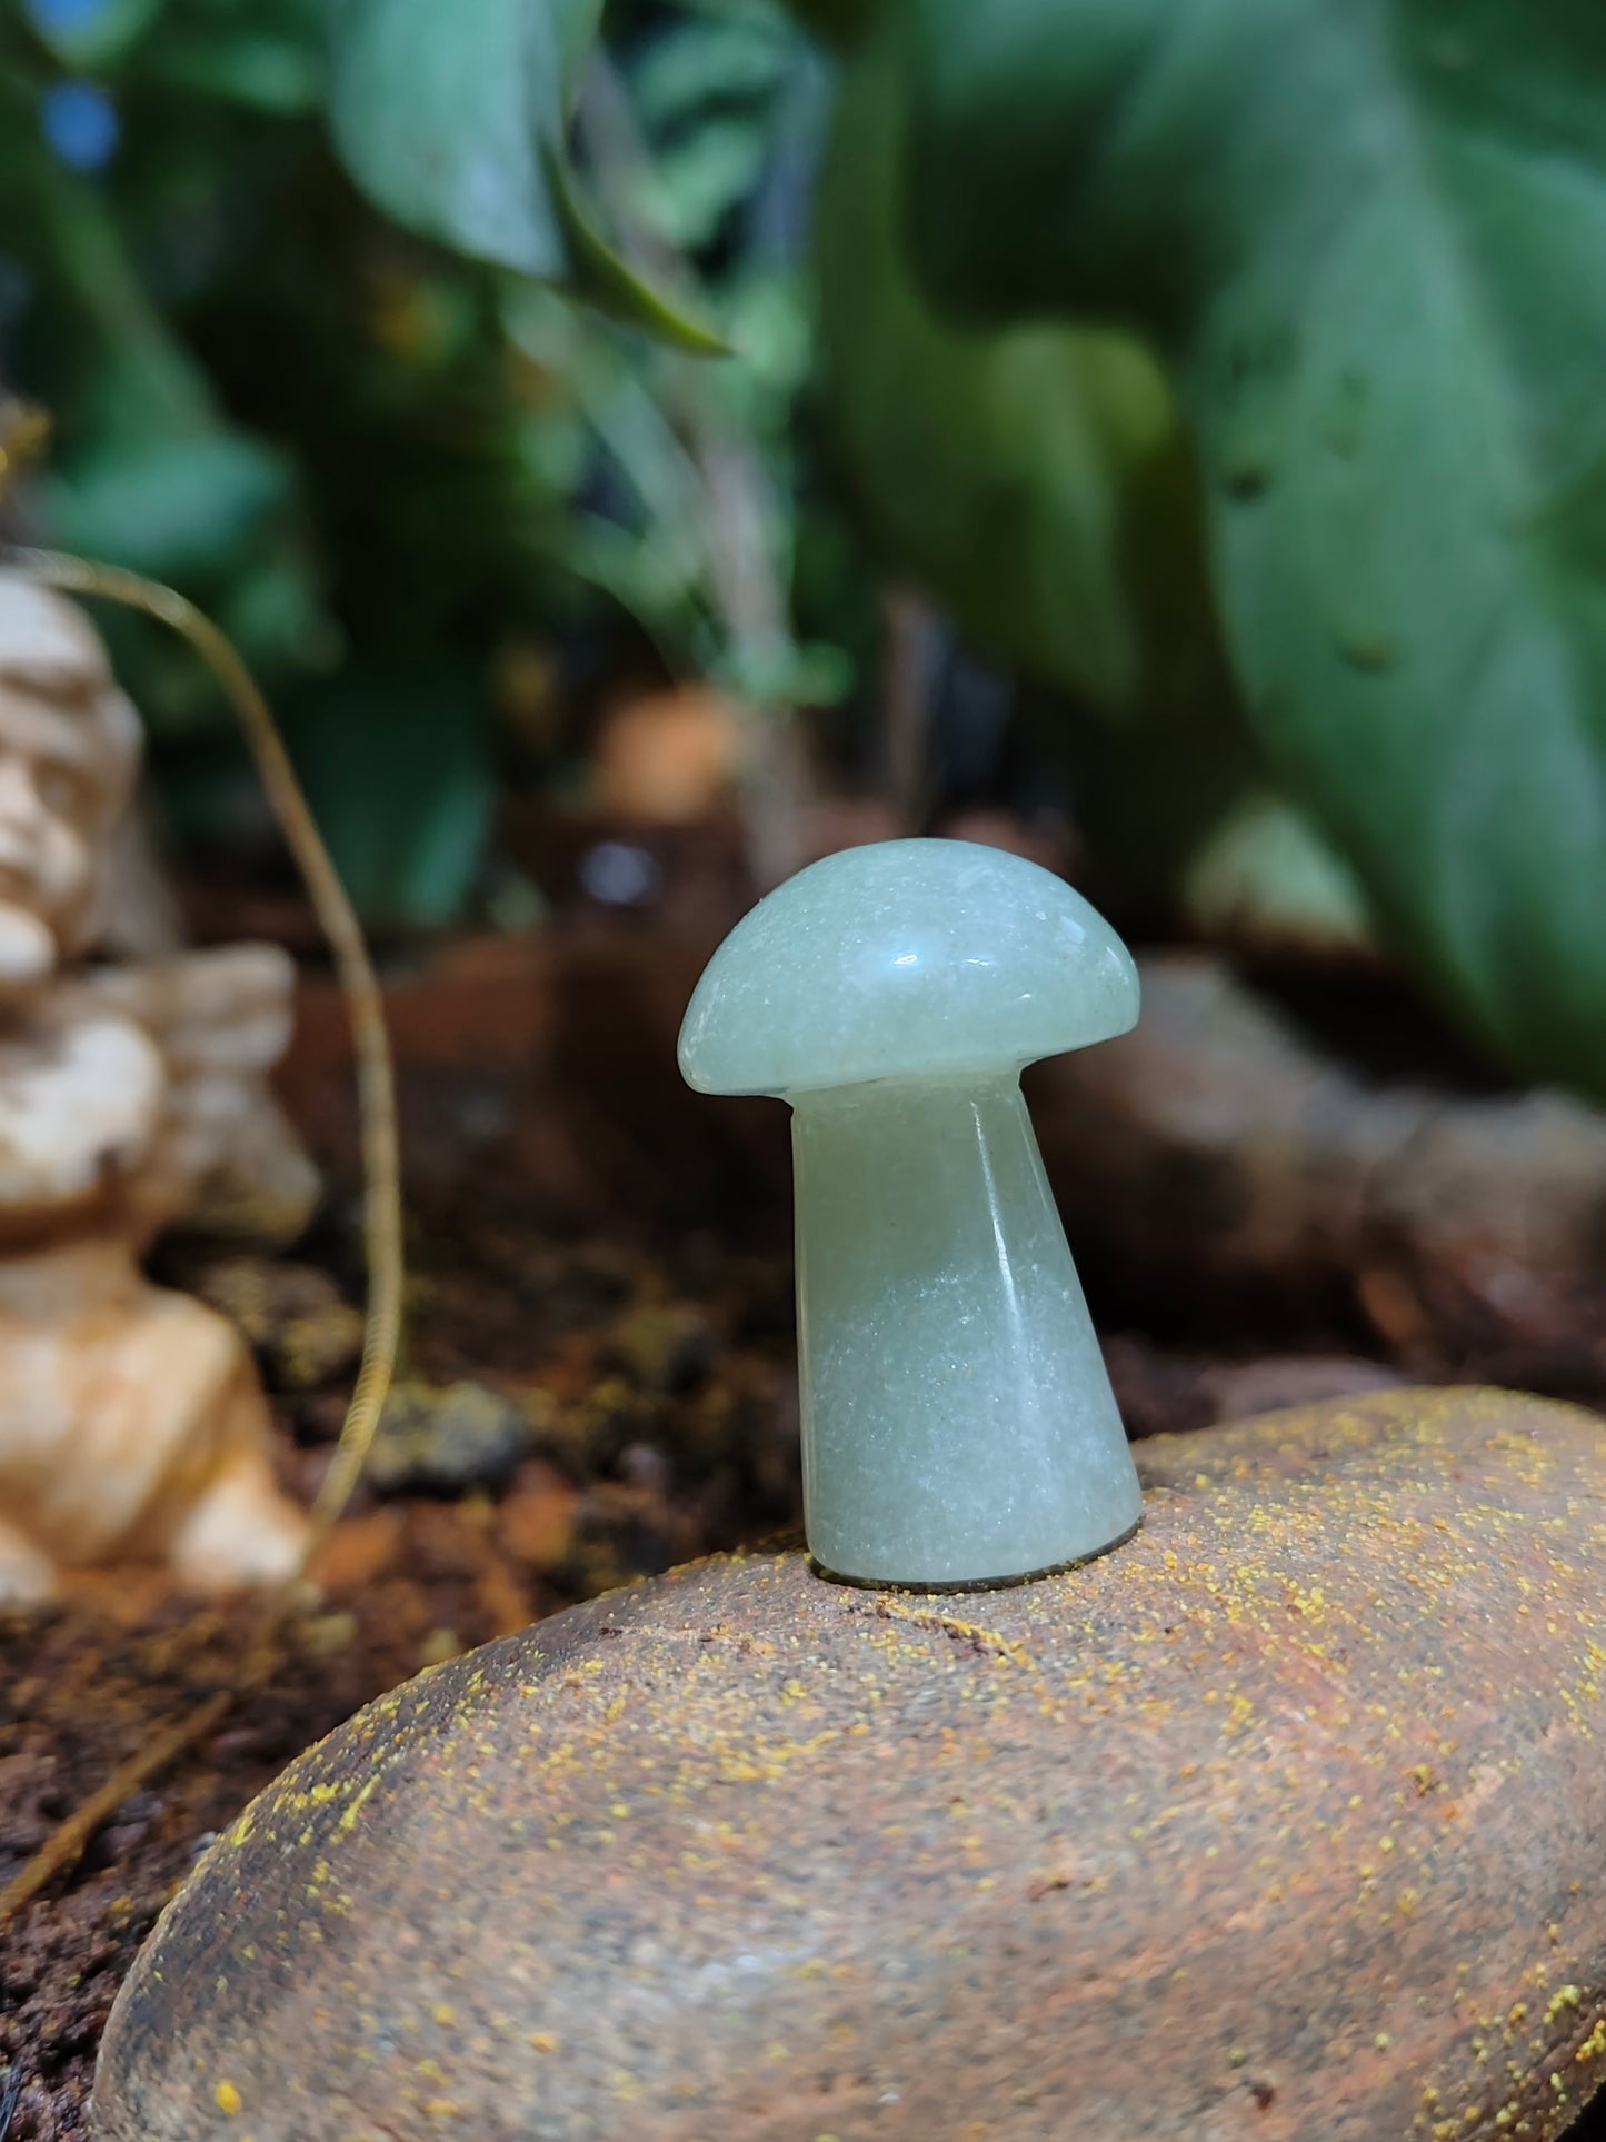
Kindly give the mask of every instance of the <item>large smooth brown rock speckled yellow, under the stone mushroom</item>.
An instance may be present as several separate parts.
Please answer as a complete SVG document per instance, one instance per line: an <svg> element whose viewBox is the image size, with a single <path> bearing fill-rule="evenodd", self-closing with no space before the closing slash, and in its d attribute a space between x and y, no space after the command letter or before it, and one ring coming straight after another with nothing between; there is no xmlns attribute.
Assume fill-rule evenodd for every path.
<svg viewBox="0 0 1606 2142"><path fill-rule="evenodd" d="M1559 2136L1606 2080L1606 1427L1388 1392L1139 1459L1066 1577L709 1562L370 1705L163 1919L101 2136Z"/></svg>

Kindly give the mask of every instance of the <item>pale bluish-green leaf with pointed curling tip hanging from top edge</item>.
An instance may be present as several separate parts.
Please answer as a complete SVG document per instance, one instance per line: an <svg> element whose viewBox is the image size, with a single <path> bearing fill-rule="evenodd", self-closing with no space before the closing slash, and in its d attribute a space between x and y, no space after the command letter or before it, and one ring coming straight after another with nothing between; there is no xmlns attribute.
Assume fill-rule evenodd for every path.
<svg viewBox="0 0 1606 2142"><path fill-rule="evenodd" d="M330 0L334 144L396 223L589 298L651 334L724 347L597 236L567 174L565 86L595 0Z"/></svg>

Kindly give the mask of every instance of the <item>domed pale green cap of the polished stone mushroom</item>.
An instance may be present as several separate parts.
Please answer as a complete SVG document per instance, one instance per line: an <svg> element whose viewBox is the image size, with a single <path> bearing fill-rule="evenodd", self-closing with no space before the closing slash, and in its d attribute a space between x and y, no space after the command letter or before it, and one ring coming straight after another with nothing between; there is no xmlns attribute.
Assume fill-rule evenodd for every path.
<svg viewBox="0 0 1606 2142"><path fill-rule="evenodd" d="M1122 1035L1137 968L1051 872L970 840L887 840L745 915L681 1026L700 1092L987 1075Z"/></svg>

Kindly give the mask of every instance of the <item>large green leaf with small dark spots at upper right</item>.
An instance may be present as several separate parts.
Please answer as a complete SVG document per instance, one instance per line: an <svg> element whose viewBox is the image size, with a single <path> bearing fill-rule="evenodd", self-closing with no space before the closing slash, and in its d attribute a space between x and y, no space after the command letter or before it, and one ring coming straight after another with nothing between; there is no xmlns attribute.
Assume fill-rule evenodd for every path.
<svg viewBox="0 0 1606 2142"><path fill-rule="evenodd" d="M934 285L1156 336L1270 756L1445 1000L1606 1095L1606 9L904 21Z"/></svg>

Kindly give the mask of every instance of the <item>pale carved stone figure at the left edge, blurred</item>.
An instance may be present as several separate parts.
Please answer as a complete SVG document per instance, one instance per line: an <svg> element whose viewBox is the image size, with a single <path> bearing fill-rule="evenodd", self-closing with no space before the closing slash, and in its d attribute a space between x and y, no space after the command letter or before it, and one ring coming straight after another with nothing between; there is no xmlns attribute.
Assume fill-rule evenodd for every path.
<svg viewBox="0 0 1606 2142"><path fill-rule="evenodd" d="M84 613L0 572L0 1600L124 1557L266 1583L306 1538L240 1334L139 1266L197 1206L287 1236L315 1195L266 1086L285 953L81 964L139 743Z"/></svg>

